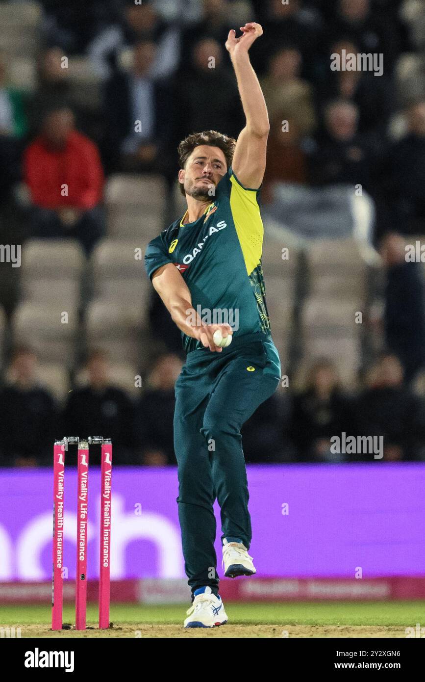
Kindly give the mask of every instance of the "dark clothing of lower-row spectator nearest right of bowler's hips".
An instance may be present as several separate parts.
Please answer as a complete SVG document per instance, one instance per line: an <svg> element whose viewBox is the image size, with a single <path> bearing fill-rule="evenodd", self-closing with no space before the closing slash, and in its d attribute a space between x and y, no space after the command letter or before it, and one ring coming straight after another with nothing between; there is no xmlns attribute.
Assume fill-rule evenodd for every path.
<svg viewBox="0 0 425 682"><path fill-rule="evenodd" d="M331 437L349 433L351 426L351 405L340 391L334 391L327 400L311 389L294 396L289 434L300 461L324 461L329 456Z"/></svg>

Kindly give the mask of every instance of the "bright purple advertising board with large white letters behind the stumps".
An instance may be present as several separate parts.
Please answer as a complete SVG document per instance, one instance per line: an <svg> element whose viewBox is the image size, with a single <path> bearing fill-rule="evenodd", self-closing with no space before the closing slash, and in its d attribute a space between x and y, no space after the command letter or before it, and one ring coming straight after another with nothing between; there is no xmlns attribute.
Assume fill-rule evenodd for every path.
<svg viewBox="0 0 425 682"><path fill-rule="evenodd" d="M249 466L258 576L425 575L425 464ZM49 580L52 471L0 471L0 582ZM99 574L99 470L89 473L89 577ZM185 576L173 468L112 472L111 578ZM217 557L221 563L219 509ZM64 566L76 565L76 471L65 470ZM66 577L66 576L65 576Z"/></svg>

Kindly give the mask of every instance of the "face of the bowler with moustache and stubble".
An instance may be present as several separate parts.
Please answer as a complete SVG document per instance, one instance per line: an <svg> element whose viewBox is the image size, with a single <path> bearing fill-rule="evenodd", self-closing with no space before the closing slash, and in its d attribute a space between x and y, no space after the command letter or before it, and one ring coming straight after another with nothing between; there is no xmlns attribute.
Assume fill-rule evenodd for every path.
<svg viewBox="0 0 425 682"><path fill-rule="evenodd" d="M189 196L200 201L208 198L214 201L215 188L226 171L223 151L219 147L200 145L193 149L185 169L180 170L179 179L183 180L183 187Z"/></svg>

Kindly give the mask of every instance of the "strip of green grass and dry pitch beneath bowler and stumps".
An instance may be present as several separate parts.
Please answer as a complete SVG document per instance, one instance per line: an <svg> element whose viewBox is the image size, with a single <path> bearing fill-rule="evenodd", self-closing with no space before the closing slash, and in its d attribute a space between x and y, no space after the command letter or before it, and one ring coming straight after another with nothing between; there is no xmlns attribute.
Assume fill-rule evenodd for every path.
<svg viewBox="0 0 425 682"><path fill-rule="evenodd" d="M188 606L111 604L112 626L99 631L90 604L79 632L52 632L49 606L2 606L0 627L20 627L22 638L405 638L407 627L425 623L425 602L227 603L227 625L185 630ZM74 606L64 607L63 622L74 623Z"/></svg>

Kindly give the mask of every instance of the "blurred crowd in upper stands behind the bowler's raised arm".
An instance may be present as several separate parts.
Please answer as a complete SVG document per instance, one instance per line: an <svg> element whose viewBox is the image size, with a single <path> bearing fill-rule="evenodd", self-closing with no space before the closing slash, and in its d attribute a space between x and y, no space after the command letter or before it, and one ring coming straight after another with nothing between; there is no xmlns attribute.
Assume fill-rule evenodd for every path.
<svg viewBox="0 0 425 682"><path fill-rule="evenodd" d="M242 17L264 27L251 50L271 123L263 201L272 201L275 182L360 183L375 201L375 239L388 231L424 233L423 3L41 5L31 95L10 85L10 61L6 53L0 59L0 198L10 199L16 181L25 180L29 236L76 236L90 252L105 232L104 175L154 171L172 186L179 140L211 127L237 136L242 108L224 44ZM330 55L343 50L383 55L383 73L330 70ZM89 60L101 86L97 107L75 96L63 61L74 55ZM58 182L72 188L69 194L57 192Z"/></svg>

